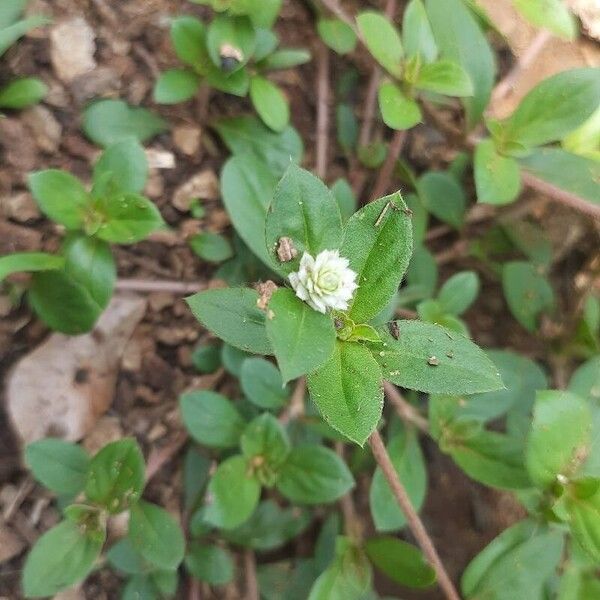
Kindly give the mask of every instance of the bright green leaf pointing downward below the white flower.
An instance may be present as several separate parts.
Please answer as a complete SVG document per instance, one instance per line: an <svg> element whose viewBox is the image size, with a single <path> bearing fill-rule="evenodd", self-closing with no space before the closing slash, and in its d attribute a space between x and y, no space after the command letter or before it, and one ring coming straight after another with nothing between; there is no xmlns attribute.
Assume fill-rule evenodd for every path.
<svg viewBox="0 0 600 600"><path fill-rule="evenodd" d="M367 348L336 342L331 359L308 377L313 402L331 427L362 446L383 408L381 368Z"/></svg>

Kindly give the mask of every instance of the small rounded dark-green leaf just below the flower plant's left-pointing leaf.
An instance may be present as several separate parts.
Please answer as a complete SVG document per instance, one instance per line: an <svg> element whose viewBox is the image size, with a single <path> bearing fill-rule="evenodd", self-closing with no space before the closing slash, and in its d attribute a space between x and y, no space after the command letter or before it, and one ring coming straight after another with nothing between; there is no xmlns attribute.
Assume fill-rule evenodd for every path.
<svg viewBox="0 0 600 600"><path fill-rule="evenodd" d="M268 410L282 408L290 395L290 389L283 385L277 367L264 358L248 358L244 361L240 384L248 400Z"/></svg>

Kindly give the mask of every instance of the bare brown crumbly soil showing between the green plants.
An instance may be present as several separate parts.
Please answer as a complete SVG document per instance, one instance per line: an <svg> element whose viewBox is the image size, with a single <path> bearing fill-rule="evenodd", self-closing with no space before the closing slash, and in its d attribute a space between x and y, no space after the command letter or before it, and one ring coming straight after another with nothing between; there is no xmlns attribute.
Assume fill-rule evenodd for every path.
<svg viewBox="0 0 600 600"><path fill-rule="evenodd" d="M351 3L350 3L351 4ZM361 3L362 5L363 3ZM376 5L377 2L372 4ZM348 12L351 11L348 7ZM168 236L154 236L150 241L117 250L120 277L142 280L178 280L215 285L214 269L203 264L185 243L186 237L200 231L225 232L229 220L218 199L207 203L206 216L193 219L172 203L178 186L200 171L218 175L227 152L210 129L217 117L250 112L246 100L212 92L197 100L174 107L156 106L151 91L156 73L177 64L170 47L168 18L177 14L208 15L207 9L184 0L33 0L28 12L46 14L55 22L82 16L96 36L94 71L78 77L70 84L61 82L50 63L48 29L32 32L3 58L0 83L14 75L36 75L50 86L50 94L39 109L11 113L0 119L0 255L21 250L57 248L60 232L40 218L31 199L25 193L17 208L6 205L26 192L25 178L29 171L56 167L89 180L90 164L98 150L81 132L81 111L92 98L120 97L131 104L150 107L165 117L172 128L185 133L191 128L201 131L200 146L189 155L175 143L171 132L154 139L150 147L171 153L174 168L154 169L147 194L159 206L172 228ZM284 45L315 49L312 15L303 2L287 0L278 21L277 31ZM357 107L372 66L361 52L342 59L332 55L332 78L350 63L355 63L364 85L359 86ZM314 62L300 68L278 73L277 82L286 90L291 102L293 125L300 132L306 147L305 164L314 165L316 71ZM360 116L360 115L359 115ZM332 119L333 121L333 119ZM58 132L58 135L57 135ZM180 133L181 133L180 132ZM378 127L375 137L387 137L389 131ZM348 176L349 167L335 145L333 124L330 131L327 180ZM417 127L408 136L403 156L419 171L443 167L453 157L443 139L428 125ZM356 168L356 165L353 165ZM367 173L367 189L376 173ZM390 182L391 189L401 185ZM367 194L365 194L365 197ZM16 202L11 200L12 203ZM526 197L520 205L533 206L528 218L540 223L553 234L560 257L552 267L552 279L560 296L560 313L565 323L571 322L578 308L576 283L587 277L598 265L590 262L598 247L598 231L589 220L572 212L548 205L543 198ZM435 223L433 224L435 227ZM556 333L556 323L548 323L539 337L525 332L509 316L497 277L480 262L464 253L465 242L489 230L490 220L470 225L462 234L447 233L430 242L436 253L445 254L442 280L467 268L478 270L483 281L483 293L470 310L468 324L478 343L485 347L511 348L545 363L556 379L564 380L564 370L552 363L549 345ZM561 232L576 231L567 240ZM561 246L562 245L562 246ZM24 354L35 348L48 335L48 330L35 319L25 302L11 305L7 296L0 296L0 378ZM559 328L562 331L561 328ZM178 395L190 387L235 390L235 384L222 377L198 377L190 355L194 346L208 337L190 314L182 298L168 292L148 296L146 315L128 346L124 365L118 376L114 402L109 412L85 440L88 447L121 435L135 436L145 455L163 460L161 469L147 489L147 497L175 513L180 512L182 427L177 411ZM0 405L1 406L1 405ZM175 443L176 442L176 443ZM453 463L427 440L423 440L428 459L429 492L422 511L424 522L439 549L452 577L458 580L469 560L502 529L522 516L521 509L509 494L490 490L469 480ZM175 448L175 453L173 450ZM361 481L355 501L358 512L368 515L367 482ZM21 449L4 413L0 413L0 539L13 540L19 550L9 560L0 561L0 597L20 598L19 576L24 556L35 539L56 522L58 512L50 495L33 484L21 463ZM365 524L366 527L371 525ZM4 532L4 533L3 533ZM282 549L277 557L295 553L310 554L316 528L311 528L296 544ZM404 534L410 539L409 534ZM16 541L15 541L16 540ZM1 552L0 552L1 555ZM259 562L274 556L258 557ZM242 557L239 556L242 565ZM239 569L240 573L242 569ZM242 574L243 575L243 574ZM243 579L243 577L242 577ZM178 597L187 597L185 576ZM438 591L411 592L377 582L381 593L410 600L434 600ZM108 569L101 569L80 591L81 598L94 600L118 598L120 582ZM241 598L243 583L211 593L203 598ZM191 597L191 596L190 596Z"/></svg>

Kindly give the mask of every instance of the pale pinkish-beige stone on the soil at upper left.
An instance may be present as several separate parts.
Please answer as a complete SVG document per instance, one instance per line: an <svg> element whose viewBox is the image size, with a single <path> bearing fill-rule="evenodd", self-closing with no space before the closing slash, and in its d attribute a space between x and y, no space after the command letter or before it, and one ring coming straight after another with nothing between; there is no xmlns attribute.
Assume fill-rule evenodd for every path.
<svg viewBox="0 0 600 600"><path fill-rule="evenodd" d="M62 21L50 32L50 60L59 79L70 83L96 68L94 30L83 17Z"/></svg>

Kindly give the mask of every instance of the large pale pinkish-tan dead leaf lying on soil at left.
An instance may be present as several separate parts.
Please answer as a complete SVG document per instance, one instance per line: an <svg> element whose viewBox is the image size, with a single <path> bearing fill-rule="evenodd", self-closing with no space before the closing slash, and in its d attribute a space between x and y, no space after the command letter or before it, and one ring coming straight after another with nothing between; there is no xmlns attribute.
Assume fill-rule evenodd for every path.
<svg viewBox="0 0 600 600"><path fill-rule="evenodd" d="M52 334L7 379L6 407L24 443L80 440L113 401L127 341L146 310L137 296L115 297L91 333Z"/></svg>

